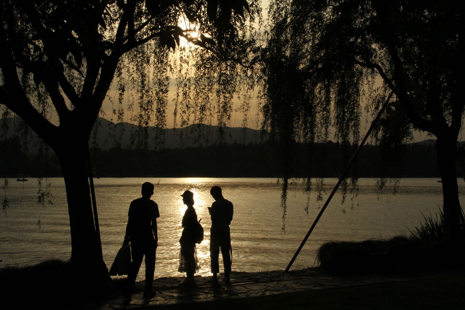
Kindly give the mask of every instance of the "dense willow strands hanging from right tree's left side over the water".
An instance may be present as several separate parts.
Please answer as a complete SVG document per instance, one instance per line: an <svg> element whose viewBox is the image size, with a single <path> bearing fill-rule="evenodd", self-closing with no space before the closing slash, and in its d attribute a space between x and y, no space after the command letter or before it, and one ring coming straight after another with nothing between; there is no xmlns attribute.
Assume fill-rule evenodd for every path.
<svg viewBox="0 0 465 310"><path fill-rule="evenodd" d="M317 201L321 201L325 191L324 167L334 165L325 161L324 154L312 152L315 143L326 144L333 127L334 139L343 145L341 161L348 162L351 145L359 141L359 87L363 83L364 71L354 66L321 67L321 56L312 50L312 44L320 40L320 33L309 29L305 22L308 16L299 14L292 1L272 1L269 17L270 30L266 33L262 56L262 130L270 132L278 146L284 230L288 183L295 180L289 171L297 156L294 152L296 143L305 145L310 158L308 165L302 167L307 174L303 183L307 194L305 210L308 212L312 176L317 177ZM342 203L348 191L353 196L357 194L358 182L354 173L350 181L343 180L341 189Z"/></svg>

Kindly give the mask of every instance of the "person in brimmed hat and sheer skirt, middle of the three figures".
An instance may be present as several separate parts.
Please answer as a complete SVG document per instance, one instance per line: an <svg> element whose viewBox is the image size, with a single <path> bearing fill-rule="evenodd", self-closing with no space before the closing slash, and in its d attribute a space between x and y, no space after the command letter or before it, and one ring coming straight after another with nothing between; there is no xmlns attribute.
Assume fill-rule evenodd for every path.
<svg viewBox="0 0 465 310"><path fill-rule="evenodd" d="M186 204L187 209L182 217L182 230L179 244L181 251L179 254L179 272L186 272L186 279L182 285L194 285L194 273L198 270L197 257L195 255L195 241L193 238L193 229L197 224L197 212L194 205L194 194L192 191L185 191L182 195L182 202Z"/></svg>

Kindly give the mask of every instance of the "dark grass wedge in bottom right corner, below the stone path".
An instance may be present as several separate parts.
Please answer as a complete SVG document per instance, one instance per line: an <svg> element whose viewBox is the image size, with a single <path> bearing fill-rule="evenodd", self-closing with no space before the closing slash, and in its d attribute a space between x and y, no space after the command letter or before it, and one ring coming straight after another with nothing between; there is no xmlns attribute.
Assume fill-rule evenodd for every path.
<svg viewBox="0 0 465 310"><path fill-rule="evenodd" d="M465 309L464 296L465 277L459 276L193 303L188 309Z"/></svg>

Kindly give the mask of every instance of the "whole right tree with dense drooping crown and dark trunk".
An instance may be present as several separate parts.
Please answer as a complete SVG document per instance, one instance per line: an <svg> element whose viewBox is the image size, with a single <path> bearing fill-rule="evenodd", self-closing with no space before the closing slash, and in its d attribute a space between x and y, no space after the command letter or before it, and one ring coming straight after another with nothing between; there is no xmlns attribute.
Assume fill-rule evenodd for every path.
<svg viewBox="0 0 465 310"><path fill-rule="evenodd" d="M376 113L393 92L374 136L391 150L413 130L437 138L449 239L460 236L461 220L460 7L436 0L276 0L264 53L264 128L285 149L289 137L326 141L330 125L338 140L358 141L362 100Z"/></svg>

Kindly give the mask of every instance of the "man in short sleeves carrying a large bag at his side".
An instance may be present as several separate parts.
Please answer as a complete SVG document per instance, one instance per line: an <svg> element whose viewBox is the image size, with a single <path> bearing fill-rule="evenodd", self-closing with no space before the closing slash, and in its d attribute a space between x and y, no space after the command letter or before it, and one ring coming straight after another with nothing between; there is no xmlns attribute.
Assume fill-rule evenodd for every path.
<svg viewBox="0 0 465 310"><path fill-rule="evenodd" d="M126 287L123 297L131 299L131 290L134 287L139 273L142 258L145 255L146 279L144 298L154 296L152 290L153 273L155 272L155 252L158 245L157 218L160 217L158 205L150 199L153 195L153 184L142 184L142 197L131 202L127 214L126 236L124 245L131 241L131 256L133 261L129 267Z"/></svg>

